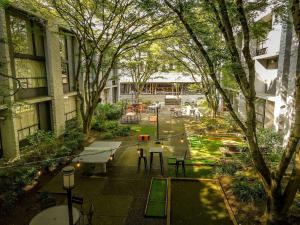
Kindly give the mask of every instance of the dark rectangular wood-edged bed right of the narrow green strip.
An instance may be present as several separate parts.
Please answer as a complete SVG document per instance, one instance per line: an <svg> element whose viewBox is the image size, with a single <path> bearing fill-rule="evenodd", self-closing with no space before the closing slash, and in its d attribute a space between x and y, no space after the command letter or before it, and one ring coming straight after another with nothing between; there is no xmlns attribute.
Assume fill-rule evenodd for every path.
<svg viewBox="0 0 300 225"><path fill-rule="evenodd" d="M168 225L235 225L215 180L171 179Z"/></svg>

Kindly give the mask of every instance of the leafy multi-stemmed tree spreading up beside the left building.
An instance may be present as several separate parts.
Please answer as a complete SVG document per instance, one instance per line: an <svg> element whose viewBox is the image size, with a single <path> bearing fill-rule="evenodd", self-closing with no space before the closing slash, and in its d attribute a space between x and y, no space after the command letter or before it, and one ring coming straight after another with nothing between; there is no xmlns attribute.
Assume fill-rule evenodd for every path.
<svg viewBox="0 0 300 225"><path fill-rule="evenodd" d="M49 0L71 29L79 46L75 76L83 131L89 134L91 120L101 101L107 79L120 57L135 47L163 38L158 35L167 15L154 20L152 12L135 0ZM81 83L83 83L81 87Z"/></svg>

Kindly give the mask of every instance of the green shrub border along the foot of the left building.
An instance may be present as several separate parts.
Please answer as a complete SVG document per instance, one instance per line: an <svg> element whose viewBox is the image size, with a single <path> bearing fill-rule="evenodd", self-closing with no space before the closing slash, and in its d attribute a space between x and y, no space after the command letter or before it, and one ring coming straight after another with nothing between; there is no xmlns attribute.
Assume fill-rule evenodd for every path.
<svg viewBox="0 0 300 225"><path fill-rule="evenodd" d="M39 177L38 171L51 172L59 164L56 160L72 154L81 148L84 135L78 121L69 121L66 132L60 138L55 138L53 133L38 131L28 137L29 145L23 150L21 159L13 166L0 171L0 215L7 215L16 206L18 199L24 193L24 187L32 184ZM23 167L26 162L44 161L40 165ZM18 167L20 166L20 167Z"/></svg>

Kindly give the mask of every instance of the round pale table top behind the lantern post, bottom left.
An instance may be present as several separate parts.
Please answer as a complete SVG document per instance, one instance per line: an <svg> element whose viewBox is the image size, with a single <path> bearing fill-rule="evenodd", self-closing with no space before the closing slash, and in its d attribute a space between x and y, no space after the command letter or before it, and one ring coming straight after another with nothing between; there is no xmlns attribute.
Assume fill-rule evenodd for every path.
<svg viewBox="0 0 300 225"><path fill-rule="evenodd" d="M80 212L73 207L73 222L79 220ZM32 218L29 225L69 225L69 213L67 205L53 206L45 209Z"/></svg>

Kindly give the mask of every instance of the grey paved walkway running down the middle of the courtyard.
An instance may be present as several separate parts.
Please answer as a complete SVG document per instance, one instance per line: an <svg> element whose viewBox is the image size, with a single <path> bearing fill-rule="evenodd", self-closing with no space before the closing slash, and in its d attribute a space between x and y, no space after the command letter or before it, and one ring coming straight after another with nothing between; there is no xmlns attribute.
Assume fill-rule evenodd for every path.
<svg viewBox="0 0 300 225"><path fill-rule="evenodd" d="M169 108L165 107L159 114L160 134L163 137L184 132L184 119L172 119ZM142 123L148 122L148 115L143 115ZM155 124L154 124L155 125ZM152 140L155 137L151 137ZM164 148L164 176L175 170L174 166L168 168L167 158L182 156L188 148L186 140L180 142L181 136L168 138L163 141ZM136 143L137 137L120 138L122 146ZM153 142L149 146L155 145ZM147 150L146 150L147 151ZM147 155L149 161L149 155ZM137 147L121 148L117 151L115 160L109 165L108 173L103 177L83 177L80 169L76 172L76 188L73 193L84 198L84 208L88 209L90 203L95 207L96 225L164 225L165 219L145 218L144 209L152 177L161 176L159 158L156 156L151 173L137 170ZM62 190L61 174L52 179L41 191L50 193L64 193Z"/></svg>

